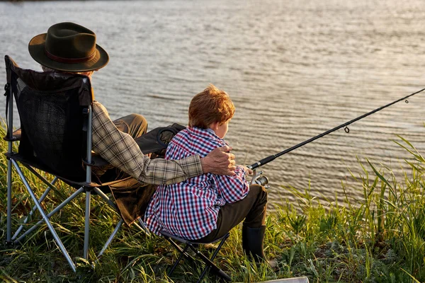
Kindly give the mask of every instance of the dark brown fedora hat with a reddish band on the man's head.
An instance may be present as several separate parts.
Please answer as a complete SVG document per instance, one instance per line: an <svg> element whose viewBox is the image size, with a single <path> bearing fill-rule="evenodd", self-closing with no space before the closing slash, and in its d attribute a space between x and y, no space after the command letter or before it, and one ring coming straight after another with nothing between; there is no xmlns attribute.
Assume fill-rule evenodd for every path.
<svg viewBox="0 0 425 283"><path fill-rule="evenodd" d="M109 61L94 32L77 23L52 25L30 40L28 50L38 63L60 71L94 71Z"/></svg>

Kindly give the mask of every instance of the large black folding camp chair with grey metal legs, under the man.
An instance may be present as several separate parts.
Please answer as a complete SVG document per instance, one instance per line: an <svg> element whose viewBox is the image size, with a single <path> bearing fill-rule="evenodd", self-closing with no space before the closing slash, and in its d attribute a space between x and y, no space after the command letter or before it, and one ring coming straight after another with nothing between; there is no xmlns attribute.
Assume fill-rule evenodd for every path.
<svg viewBox="0 0 425 283"><path fill-rule="evenodd" d="M49 221L50 216L58 212L65 204L71 202L78 195L86 194L85 229L84 229L84 258L88 258L89 250L89 221L91 194L100 195L108 204L115 204L106 195L108 185L121 182L115 180L110 183L100 183L92 180L92 166L104 165L106 162L101 158L92 156L91 152L91 105L93 95L91 83L87 76L78 74L43 73L28 69L21 69L13 60L6 55L6 118L8 120L8 173L7 173L7 232L6 242L18 243L23 237L33 231L44 221L52 233L57 246L64 254L67 262L75 271L75 265L69 257L67 249L62 244L59 236ZM12 132L13 129L13 98L16 101L21 129ZM18 152L13 151L13 141L19 141ZM28 168L35 176L47 185L47 190L38 199L30 187L18 163ZM107 164L107 163L106 163ZM12 199L12 166L16 168L19 177L23 181L35 206L30 211L40 212L42 219L25 233L19 227L16 233L11 235L11 199ZM39 169L51 173L56 177L50 183L35 170ZM130 177L128 177L130 178ZM52 212L47 213L42 209L41 203L50 192L55 189L57 180L75 187L77 190L67 200L59 204ZM96 183L98 182L98 183ZM102 190L101 190L102 189ZM26 224L28 218L23 221ZM112 235L108 238L101 253L106 250L113 237L122 226L121 219L115 227ZM141 225L141 226L140 226ZM143 222L138 228L149 233Z"/></svg>

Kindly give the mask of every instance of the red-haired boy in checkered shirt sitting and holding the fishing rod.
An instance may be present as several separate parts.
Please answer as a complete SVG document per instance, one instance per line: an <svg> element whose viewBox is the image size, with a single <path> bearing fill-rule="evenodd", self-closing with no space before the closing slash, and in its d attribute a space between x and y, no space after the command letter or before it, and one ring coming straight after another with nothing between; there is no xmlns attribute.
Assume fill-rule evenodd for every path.
<svg viewBox="0 0 425 283"><path fill-rule="evenodd" d="M234 105L225 91L210 85L191 100L189 127L171 140L166 159L181 159L227 145L223 139ZM243 246L246 253L263 259L263 236L267 193L259 185L246 182L249 169L237 166L235 175L206 173L174 185L160 185L145 214L147 227L159 234L213 241L244 220Z"/></svg>

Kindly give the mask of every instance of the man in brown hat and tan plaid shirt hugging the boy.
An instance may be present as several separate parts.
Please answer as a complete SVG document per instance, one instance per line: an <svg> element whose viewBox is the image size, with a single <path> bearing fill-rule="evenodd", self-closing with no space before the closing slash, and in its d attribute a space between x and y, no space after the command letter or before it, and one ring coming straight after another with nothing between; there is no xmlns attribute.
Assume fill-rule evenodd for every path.
<svg viewBox="0 0 425 283"><path fill-rule="evenodd" d="M108 53L96 45L94 32L75 23L52 25L47 33L30 40L28 50L44 71L84 74L89 78L109 60ZM121 184L122 187L140 187L140 183L178 183L203 173L234 175L234 155L228 153L229 146L217 148L203 158L194 155L178 161L151 160L137 145L137 137L147 129L147 122L141 115L112 121L106 108L95 100L92 123L94 152L133 178L133 182ZM115 177L120 175L117 170L114 172Z"/></svg>

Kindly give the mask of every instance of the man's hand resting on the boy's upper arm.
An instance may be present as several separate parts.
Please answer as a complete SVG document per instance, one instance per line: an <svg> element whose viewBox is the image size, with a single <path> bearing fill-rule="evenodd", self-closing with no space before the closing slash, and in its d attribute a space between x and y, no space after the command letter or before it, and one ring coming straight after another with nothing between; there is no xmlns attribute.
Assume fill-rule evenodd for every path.
<svg viewBox="0 0 425 283"><path fill-rule="evenodd" d="M234 154L230 154L232 148L229 146L218 147L211 151L204 158L200 158L203 173L212 173L217 175L234 175Z"/></svg>

